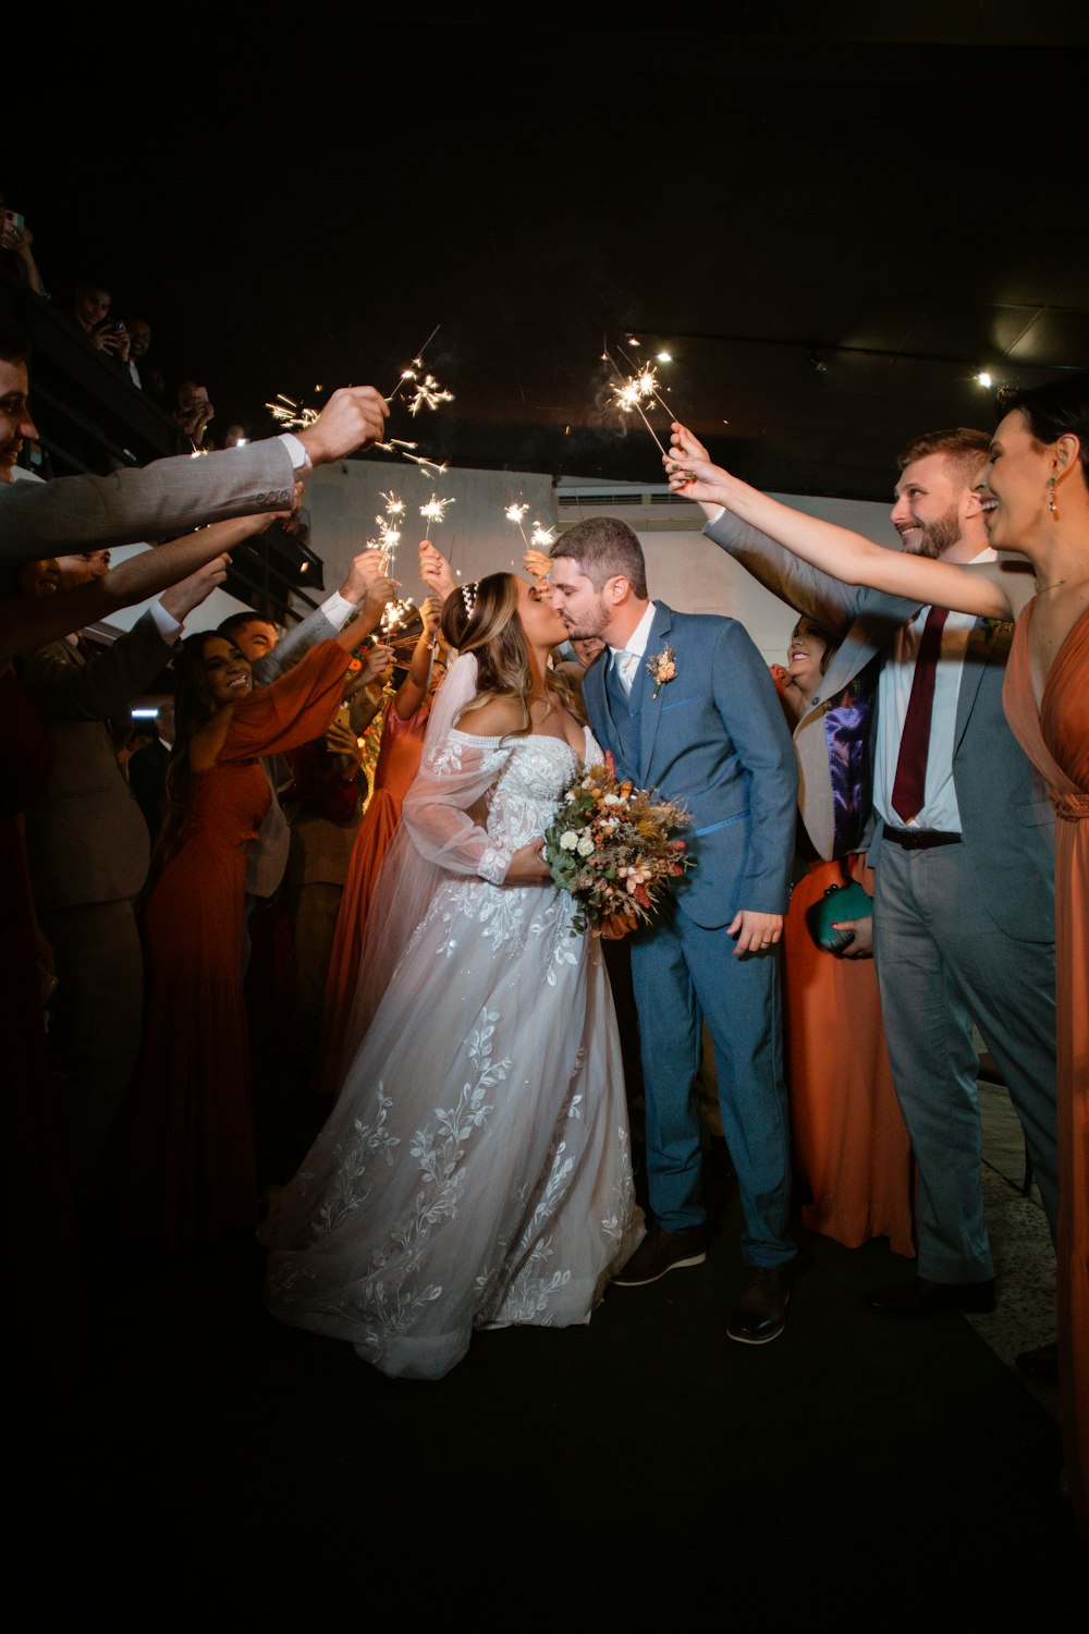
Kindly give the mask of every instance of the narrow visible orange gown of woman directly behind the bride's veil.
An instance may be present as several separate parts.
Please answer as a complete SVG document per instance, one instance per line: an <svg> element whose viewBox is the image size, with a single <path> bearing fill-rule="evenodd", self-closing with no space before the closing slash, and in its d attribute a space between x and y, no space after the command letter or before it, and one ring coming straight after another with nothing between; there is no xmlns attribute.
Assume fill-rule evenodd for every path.
<svg viewBox="0 0 1089 1634"><path fill-rule="evenodd" d="M358 1038L346 1034L359 982L367 909L382 858L400 824L402 802L420 771L429 691L444 673L442 663L434 659L441 603L429 596L420 611L423 631L413 649L408 673L385 709L374 766L374 792L356 833L336 915L322 1010L322 1052L313 1075L313 1088L325 1095L340 1090L359 1046Z"/></svg>

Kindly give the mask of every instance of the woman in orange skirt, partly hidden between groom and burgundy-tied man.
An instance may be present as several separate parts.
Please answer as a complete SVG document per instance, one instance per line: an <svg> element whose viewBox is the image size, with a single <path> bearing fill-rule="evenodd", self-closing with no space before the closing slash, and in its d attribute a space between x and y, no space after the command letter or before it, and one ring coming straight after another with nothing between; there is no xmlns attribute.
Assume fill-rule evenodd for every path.
<svg viewBox="0 0 1089 1634"><path fill-rule="evenodd" d="M872 686L862 675L839 698L811 709L836 645L828 631L802 618L787 668L776 673L795 743L803 734L820 742L820 752L807 757L798 814L798 858L807 873L793 887L782 933L795 1181L810 1230L847 1248L888 1237L893 1253L914 1255L911 1141L893 1088L873 962L818 948L805 922L807 909L829 889L847 881L873 889L859 851L869 814L862 761ZM821 789L813 763L826 768Z"/></svg>

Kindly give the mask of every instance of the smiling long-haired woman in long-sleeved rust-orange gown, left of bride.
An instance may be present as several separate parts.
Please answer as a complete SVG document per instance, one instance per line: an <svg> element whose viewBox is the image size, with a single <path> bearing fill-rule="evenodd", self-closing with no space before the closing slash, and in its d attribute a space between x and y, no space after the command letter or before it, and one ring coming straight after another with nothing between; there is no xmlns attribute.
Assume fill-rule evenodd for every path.
<svg viewBox="0 0 1089 1634"><path fill-rule="evenodd" d="M144 1049L121 1134L126 1227L168 1248L258 1221L242 998L247 845L269 802L261 757L328 725L349 639L322 642L256 691L248 660L222 636L191 636L178 660L165 866L144 913Z"/></svg>

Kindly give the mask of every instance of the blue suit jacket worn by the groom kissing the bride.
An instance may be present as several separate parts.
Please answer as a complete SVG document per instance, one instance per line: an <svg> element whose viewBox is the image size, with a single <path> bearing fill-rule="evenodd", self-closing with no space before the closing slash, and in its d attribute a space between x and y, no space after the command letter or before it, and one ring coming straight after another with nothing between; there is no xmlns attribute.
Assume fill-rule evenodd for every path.
<svg viewBox="0 0 1089 1634"><path fill-rule="evenodd" d="M696 868L681 881L678 902L689 918L715 930L740 909L785 913L798 775L767 665L736 619L655 606L632 686L637 763L622 757L606 686L607 650L583 678L593 732L616 757L617 771L687 807L692 827L684 840ZM647 663L665 647L673 650L676 676L655 698Z"/></svg>

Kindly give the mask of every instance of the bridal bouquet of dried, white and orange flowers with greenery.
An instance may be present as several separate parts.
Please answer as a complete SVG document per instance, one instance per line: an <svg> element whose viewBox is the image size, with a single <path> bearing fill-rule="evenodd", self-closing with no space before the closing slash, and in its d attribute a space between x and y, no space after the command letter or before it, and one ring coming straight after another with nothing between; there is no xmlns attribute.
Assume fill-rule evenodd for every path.
<svg viewBox="0 0 1089 1634"><path fill-rule="evenodd" d="M694 866L684 840L669 838L691 820L682 806L619 781L612 755L588 766L560 801L542 850L553 881L578 904L571 933L612 913L648 923L663 891Z"/></svg>

